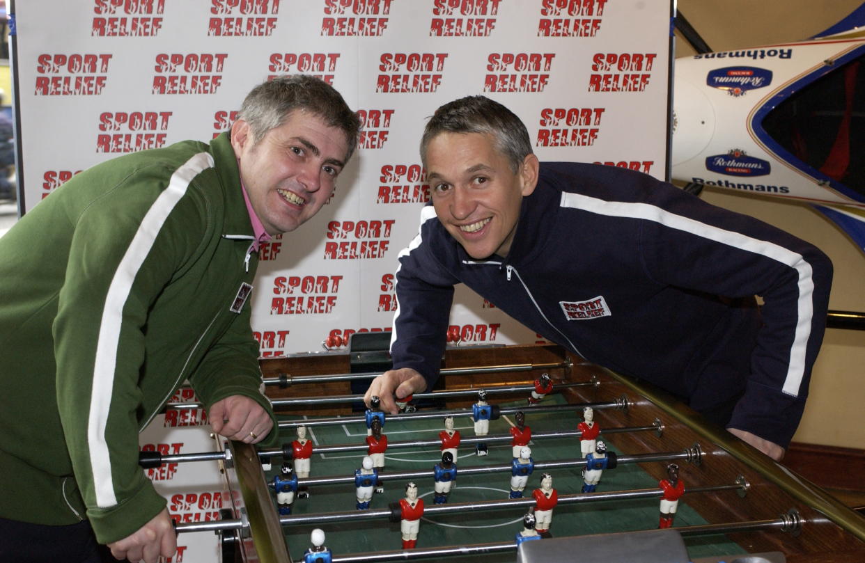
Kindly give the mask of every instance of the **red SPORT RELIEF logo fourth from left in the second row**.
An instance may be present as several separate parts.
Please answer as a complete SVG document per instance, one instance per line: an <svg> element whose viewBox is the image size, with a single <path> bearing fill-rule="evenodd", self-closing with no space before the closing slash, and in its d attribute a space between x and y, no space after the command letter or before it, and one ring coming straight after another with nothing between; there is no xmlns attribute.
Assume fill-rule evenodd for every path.
<svg viewBox="0 0 865 563"><path fill-rule="evenodd" d="M434 93L441 85L447 53L382 53L375 92Z"/></svg>

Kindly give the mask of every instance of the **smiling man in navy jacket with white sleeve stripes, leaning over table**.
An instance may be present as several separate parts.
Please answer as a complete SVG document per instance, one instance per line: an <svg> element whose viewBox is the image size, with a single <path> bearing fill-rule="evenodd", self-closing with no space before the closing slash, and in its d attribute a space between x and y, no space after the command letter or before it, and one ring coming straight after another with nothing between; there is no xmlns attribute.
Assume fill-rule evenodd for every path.
<svg viewBox="0 0 865 563"><path fill-rule="evenodd" d="M631 170L538 163L519 118L480 96L439 108L421 156L432 206L400 253L394 369L369 392L384 410L438 377L464 283L783 455L823 339L831 264L816 247Z"/></svg>

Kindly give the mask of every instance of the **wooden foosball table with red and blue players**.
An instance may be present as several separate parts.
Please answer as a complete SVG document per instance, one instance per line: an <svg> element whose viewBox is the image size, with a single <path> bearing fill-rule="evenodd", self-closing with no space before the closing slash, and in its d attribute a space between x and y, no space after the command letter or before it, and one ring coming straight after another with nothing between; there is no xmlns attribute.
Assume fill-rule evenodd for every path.
<svg viewBox="0 0 865 563"><path fill-rule="evenodd" d="M261 361L283 446L228 448L225 559L553 563L582 559L545 554L565 538L614 553L625 533L669 525L691 561L865 561L862 515L665 393L558 346L448 349L436 387L397 415L362 404L386 356Z"/></svg>

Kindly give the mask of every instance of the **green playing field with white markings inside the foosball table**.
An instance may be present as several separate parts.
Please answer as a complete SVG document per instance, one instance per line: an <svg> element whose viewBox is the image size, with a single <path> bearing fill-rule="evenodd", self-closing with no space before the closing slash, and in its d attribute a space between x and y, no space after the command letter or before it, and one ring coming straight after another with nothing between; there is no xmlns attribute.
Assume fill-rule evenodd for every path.
<svg viewBox="0 0 865 563"><path fill-rule="evenodd" d="M548 397L544 404L554 404L560 397ZM522 406L521 403L504 403L501 406ZM576 430L580 422L581 409L568 413L533 413L530 407L525 409L526 425L532 432L553 432L561 430ZM471 411L465 416L455 418L455 428L462 437L475 436ZM357 416L360 416L358 413ZM356 418L355 417L355 418ZM285 417L285 420L297 418ZM490 436L503 435L514 425L512 416L502 416L490 421ZM439 431L444 428L443 419L427 420L390 420L385 423L383 433L390 443L410 440L437 439ZM294 439L294 431L282 432L286 442ZM363 423L343 425L327 425L310 427L309 438L315 445L349 445L363 444L367 429ZM649 453L646 451L619 451L615 446L615 434L601 439L611 446L612 451L621 455ZM529 444L535 463L577 459L580 456L580 442L577 438L539 438ZM361 466L365 451L350 451L344 453L315 453L311 459L311 477L347 477ZM385 456L385 473L397 471L428 471L429 476L415 479L419 496L423 498L426 507L432 506L432 466L441 459L438 447L414 447L391 449ZM460 446L458 455L458 477L454 484L449 503L478 502L502 500L509 497L510 473L491 473L485 475L460 475L459 470L468 467L484 465L504 465L511 462L511 446L509 442L490 443L489 455L477 457L474 447L470 444ZM666 464L666 462L657 462ZM698 470L687 462L676 462L680 465L681 478L688 487L689 471ZM274 464L272 470L266 473L268 483L279 471L279 464ZM548 471L553 476L553 486L559 496L579 493L583 484L580 467L554 470L535 470L529 476L529 483L524 496L531 497L532 490L540 487L541 473ZM387 509L390 502L397 502L404 496L405 480L385 481L384 492L375 494L370 504L371 509ZM719 483L728 484L728 483ZM597 487L598 492L612 492L627 489L657 489L657 481L649 477L636 464L619 464L614 470L606 470ZM699 494L699 493L695 493ZM738 498L734 491L728 493L731 502ZM689 496L686 494L679 502L674 527L705 524L694 510L689 509ZM275 504L275 495L274 495ZM296 499L292 515L312 515L329 512L354 511L356 504L354 483L324 484L310 488L310 496ZM602 502L579 502L559 504L553 511L553 521L550 532L554 537L582 534L601 534L657 528L659 496L650 499L616 500ZM429 515L420 521L420 534L417 547L442 547L487 542L514 541L517 533L522 530L522 515L525 507L512 509L497 509L487 512L470 512L447 515ZM390 522L387 517L356 522L324 523L317 526L308 524L292 525L285 528L285 541L289 553L295 560L303 560L302 553L310 547L310 532L312 528L322 528L326 534L325 545L334 556L349 553L401 549L400 524ZM722 535L707 535L686 538L689 555L692 559L706 556L720 556L743 553L738 545ZM496 553L473 557L460 556L459 561L515 561L516 551Z"/></svg>

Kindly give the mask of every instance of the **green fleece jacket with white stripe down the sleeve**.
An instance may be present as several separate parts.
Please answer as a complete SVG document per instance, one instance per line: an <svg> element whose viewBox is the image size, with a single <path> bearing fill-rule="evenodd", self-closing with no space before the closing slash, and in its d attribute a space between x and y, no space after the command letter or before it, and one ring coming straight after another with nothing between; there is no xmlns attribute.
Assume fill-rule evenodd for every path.
<svg viewBox="0 0 865 563"><path fill-rule="evenodd" d="M271 411L252 242L227 134L81 172L0 239L0 516L118 541L165 505L138 432L180 383Z"/></svg>

